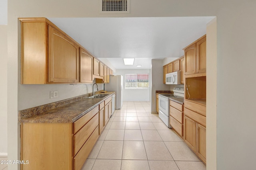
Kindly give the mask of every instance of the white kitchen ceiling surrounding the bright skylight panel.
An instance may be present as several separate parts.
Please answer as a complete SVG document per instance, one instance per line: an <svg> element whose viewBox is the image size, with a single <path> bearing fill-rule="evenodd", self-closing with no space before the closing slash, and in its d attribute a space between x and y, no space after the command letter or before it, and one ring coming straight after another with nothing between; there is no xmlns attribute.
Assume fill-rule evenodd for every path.
<svg viewBox="0 0 256 170"><path fill-rule="evenodd" d="M178 58L206 34L214 17L48 18L95 57L115 69L150 69L151 59ZM135 58L124 66L122 58ZM104 62L103 61L103 62ZM136 67L136 65L142 65Z"/></svg>

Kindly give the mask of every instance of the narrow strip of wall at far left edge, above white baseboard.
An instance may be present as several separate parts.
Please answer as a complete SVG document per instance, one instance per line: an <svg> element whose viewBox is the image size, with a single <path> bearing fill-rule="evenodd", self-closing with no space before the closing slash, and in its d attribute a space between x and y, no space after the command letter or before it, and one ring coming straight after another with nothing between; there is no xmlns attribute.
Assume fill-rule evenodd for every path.
<svg viewBox="0 0 256 170"><path fill-rule="evenodd" d="M0 25L0 156L7 153L7 25Z"/></svg>

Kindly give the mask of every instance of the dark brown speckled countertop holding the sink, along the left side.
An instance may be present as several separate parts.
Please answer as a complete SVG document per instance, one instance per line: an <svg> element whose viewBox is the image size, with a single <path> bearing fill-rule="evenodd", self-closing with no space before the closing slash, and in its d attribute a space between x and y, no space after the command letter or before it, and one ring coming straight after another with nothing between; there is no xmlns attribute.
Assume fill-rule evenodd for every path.
<svg viewBox="0 0 256 170"><path fill-rule="evenodd" d="M105 94L114 94L115 92L107 92ZM94 107L98 106L106 98L84 98L64 106L50 109L39 115L22 118L22 123L73 123Z"/></svg>

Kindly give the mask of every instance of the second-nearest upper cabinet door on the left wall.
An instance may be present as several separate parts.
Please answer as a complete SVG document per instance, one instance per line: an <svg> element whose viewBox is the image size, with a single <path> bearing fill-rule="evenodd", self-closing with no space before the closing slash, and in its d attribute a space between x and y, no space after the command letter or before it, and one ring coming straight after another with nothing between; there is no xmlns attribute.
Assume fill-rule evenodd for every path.
<svg viewBox="0 0 256 170"><path fill-rule="evenodd" d="M79 82L92 82L92 64L93 57L89 53L80 48L80 77Z"/></svg>

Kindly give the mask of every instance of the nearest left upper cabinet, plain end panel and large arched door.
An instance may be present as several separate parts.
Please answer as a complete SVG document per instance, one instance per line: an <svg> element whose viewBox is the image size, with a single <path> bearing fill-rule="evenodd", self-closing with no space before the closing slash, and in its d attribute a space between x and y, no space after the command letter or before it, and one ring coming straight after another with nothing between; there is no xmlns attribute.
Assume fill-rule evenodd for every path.
<svg viewBox="0 0 256 170"><path fill-rule="evenodd" d="M78 82L78 44L46 18L20 21L21 83Z"/></svg>

